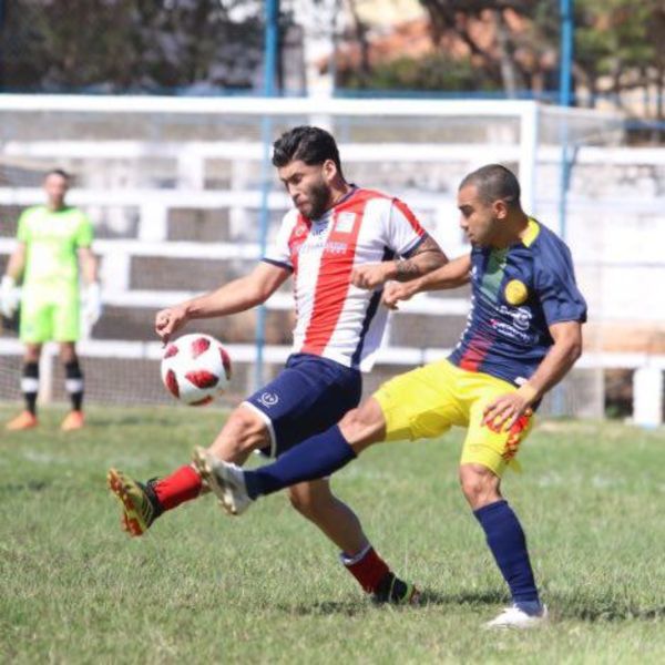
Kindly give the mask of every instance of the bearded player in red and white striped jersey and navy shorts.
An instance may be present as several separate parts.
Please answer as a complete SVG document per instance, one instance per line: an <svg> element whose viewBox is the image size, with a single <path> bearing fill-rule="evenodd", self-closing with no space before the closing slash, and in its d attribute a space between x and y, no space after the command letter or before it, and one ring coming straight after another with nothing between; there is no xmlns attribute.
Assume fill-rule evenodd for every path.
<svg viewBox="0 0 665 665"><path fill-rule="evenodd" d="M236 463L252 450L280 456L356 407L360 370L371 368L385 328L382 285L416 278L447 260L402 202L346 182L328 132L310 126L286 132L274 145L273 164L295 208L284 216L259 265L216 291L157 313L155 319L166 342L188 320L250 309L293 278L293 354L274 380L231 413L209 448L216 459ZM147 482L111 469L108 480L131 535L143 534L163 512L205 489L190 464ZM332 494L329 480L291 488L290 500L336 543L347 570L375 600L409 603L417 597L413 585L396 577L376 553L356 514Z"/></svg>

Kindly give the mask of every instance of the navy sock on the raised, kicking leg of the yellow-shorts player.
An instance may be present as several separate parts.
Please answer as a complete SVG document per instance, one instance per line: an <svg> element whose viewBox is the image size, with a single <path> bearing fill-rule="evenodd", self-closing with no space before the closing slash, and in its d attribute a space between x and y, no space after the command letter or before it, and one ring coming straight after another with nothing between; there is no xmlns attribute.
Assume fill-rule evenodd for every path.
<svg viewBox="0 0 665 665"><path fill-rule="evenodd" d="M321 434L306 439L287 450L272 464L245 471L245 484L252 499L272 494L304 480L334 473L356 457L336 424Z"/></svg>

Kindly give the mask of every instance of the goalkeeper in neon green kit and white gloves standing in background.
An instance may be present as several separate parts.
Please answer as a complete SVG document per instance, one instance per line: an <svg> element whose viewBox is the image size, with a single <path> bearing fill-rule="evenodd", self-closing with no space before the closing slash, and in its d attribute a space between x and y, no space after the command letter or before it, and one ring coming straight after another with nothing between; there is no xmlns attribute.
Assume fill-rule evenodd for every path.
<svg viewBox="0 0 665 665"><path fill-rule="evenodd" d="M101 298L98 263L91 249L92 224L82 211L64 202L70 181L60 168L47 173L47 204L21 214L18 247L0 284L0 311L4 317L11 318L21 304L20 338L25 344L21 376L25 410L7 423L8 430L38 424L39 359L45 341L60 344L65 388L72 403L61 429L83 427L83 374L76 340L82 324L91 327L99 319ZM86 285L83 303L79 296L80 273ZM17 283L21 277L19 295Z"/></svg>

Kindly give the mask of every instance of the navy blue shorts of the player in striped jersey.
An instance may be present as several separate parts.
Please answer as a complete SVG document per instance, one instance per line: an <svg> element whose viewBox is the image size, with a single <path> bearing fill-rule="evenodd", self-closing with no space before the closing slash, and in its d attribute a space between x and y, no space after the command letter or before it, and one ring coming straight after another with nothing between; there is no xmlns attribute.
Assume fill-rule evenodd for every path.
<svg viewBox="0 0 665 665"><path fill-rule="evenodd" d="M295 354L275 379L243 403L258 411L268 427L270 448L262 452L278 457L339 422L358 406L361 392L362 377L357 369Z"/></svg>

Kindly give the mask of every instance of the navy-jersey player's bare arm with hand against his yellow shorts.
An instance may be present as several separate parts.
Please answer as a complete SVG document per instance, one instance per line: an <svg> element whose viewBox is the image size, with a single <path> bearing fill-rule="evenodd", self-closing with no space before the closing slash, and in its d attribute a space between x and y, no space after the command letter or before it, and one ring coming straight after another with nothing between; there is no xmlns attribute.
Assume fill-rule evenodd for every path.
<svg viewBox="0 0 665 665"><path fill-rule="evenodd" d="M559 383L582 354L582 324L561 321L549 327L554 344L542 359L532 377L518 388L490 402L483 413L483 422L510 429L512 424L540 400L548 390Z"/></svg>

